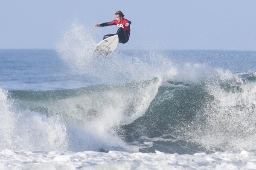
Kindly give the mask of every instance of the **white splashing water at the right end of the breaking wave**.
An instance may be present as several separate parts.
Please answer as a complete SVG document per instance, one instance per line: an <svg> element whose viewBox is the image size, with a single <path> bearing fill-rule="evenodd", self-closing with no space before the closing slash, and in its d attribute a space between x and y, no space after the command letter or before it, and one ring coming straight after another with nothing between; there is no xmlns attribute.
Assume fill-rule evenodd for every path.
<svg viewBox="0 0 256 170"><path fill-rule="evenodd" d="M187 139L207 150L256 150L256 82L218 70L205 85L212 99L205 102L187 128Z"/></svg>

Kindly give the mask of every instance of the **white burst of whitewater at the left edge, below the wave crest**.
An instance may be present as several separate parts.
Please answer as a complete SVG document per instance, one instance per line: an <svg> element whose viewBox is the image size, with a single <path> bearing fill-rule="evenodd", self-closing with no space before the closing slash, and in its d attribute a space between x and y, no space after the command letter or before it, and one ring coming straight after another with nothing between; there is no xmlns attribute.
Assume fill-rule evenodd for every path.
<svg viewBox="0 0 256 170"><path fill-rule="evenodd" d="M0 90L0 147L12 150L67 150L66 127L56 117L15 108L8 92Z"/></svg>

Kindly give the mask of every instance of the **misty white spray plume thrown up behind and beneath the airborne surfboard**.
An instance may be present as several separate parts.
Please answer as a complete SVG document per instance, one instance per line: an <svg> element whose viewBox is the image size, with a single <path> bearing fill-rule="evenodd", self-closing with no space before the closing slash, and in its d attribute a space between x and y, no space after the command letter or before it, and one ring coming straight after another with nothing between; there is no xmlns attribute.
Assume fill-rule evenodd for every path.
<svg viewBox="0 0 256 170"><path fill-rule="evenodd" d="M91 34L87 27L73 23L56 45L59 57L67 63L74 75L85 76L90 82L115 84L154 77L168 78L177 73L172 61L156 52L148 51L138 56L112 52L107 58L97 57L93 53L96 42Z"/></svg>

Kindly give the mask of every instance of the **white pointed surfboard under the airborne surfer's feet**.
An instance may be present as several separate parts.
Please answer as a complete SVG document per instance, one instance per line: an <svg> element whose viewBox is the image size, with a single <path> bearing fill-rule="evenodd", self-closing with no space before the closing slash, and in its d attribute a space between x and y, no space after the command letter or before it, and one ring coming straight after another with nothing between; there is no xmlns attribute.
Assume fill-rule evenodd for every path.
<svg viewBox="0 0 256 170"><path fill-rule="evenodd" d="M96 45L95 53L106 56L116 49L118 42L118 35L108 37Z"/></svg>

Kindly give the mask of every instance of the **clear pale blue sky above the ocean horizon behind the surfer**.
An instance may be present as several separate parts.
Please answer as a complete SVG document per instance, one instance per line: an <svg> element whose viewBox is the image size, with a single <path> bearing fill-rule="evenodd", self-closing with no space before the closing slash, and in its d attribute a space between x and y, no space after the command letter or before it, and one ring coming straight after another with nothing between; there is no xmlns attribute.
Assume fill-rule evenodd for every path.
<svg viewBox="0 0 256 170"><path fill-rule="evenodd" d="M116 32L93 28L123 11L131 37L120 49L256 50L256 0L1 0L0 48L55 48L78 22L93 40Z"/></svg>

